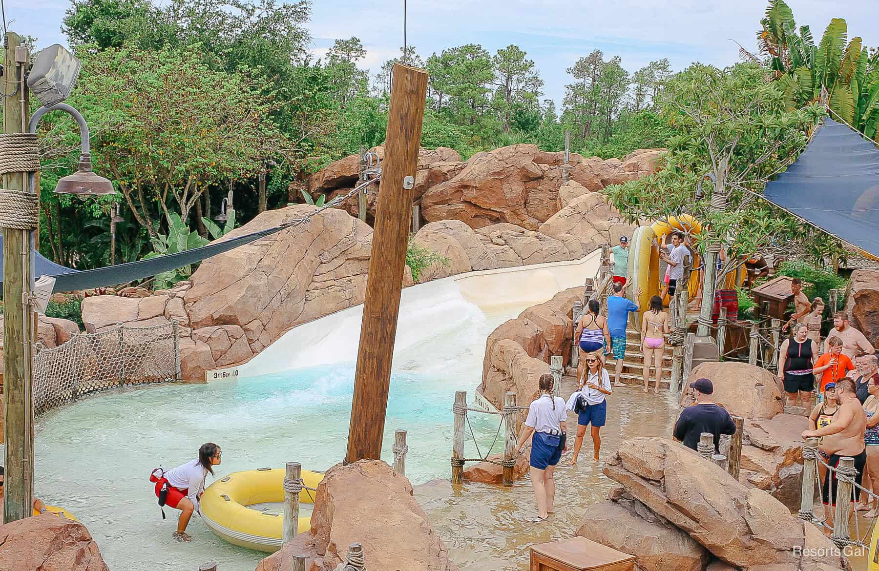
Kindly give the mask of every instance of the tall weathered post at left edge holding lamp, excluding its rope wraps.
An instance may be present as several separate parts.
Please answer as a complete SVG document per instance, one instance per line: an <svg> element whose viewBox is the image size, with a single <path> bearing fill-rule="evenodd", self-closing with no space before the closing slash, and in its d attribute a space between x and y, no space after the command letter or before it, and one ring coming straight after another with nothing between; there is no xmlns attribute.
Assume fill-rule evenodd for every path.
<svg viewBox="0 0 879 571"><path fill-rule="evenodd" d="M17 33L7 33L4 92L17 94L4 98L4 133L27 132L29 94L25 69L29 63L27 47ZM18 57L17 57L18 56ZM18 81L17 78L21 78ZM18 85L16 85L18 83ZM3 176L4 188L27 192L27 173ZM33 403L31 401L30 324L33 322L26 293L30 289L30 231L4 228L4 514L7 524L31 517L33 497Z"/></svg>

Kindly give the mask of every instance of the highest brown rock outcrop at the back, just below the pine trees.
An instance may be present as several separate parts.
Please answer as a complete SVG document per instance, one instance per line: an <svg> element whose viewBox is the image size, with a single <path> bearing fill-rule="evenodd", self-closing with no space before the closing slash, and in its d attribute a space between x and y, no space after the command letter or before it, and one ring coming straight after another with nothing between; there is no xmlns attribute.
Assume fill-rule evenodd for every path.
<svg viewBox="0 0 879 571"><path fill-rule="evenodd" d="M571 154L570 180L588 191L652 172L662 149L642 149L623 161ZM537 230L559 211L564 153L535 145L513 145L476 153L453 178L432 186L421 198L425 220L463 220L471 228L509 222Z"/></svg>

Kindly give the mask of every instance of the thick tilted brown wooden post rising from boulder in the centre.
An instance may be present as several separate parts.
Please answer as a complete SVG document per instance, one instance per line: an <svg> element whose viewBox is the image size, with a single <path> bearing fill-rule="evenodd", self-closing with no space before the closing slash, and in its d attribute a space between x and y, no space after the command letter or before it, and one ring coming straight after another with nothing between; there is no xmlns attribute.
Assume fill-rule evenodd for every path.
<svg viewBox="0 0 879 571"><path fill-rule="evenodd" d="M409 243L412 188L425 116L427 72L394 64L381 172L384 198L375 212L367 294L354 374L346 461L381 459L396 320Z"/></svg>

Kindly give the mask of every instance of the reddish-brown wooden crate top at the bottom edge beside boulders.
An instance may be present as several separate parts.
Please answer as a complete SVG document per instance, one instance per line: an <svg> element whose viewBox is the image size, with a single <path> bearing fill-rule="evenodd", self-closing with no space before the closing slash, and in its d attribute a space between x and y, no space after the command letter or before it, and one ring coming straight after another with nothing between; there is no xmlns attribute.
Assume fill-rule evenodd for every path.
<svg viewBox="0 0 879 571"><path fill-rule="evenodd" d="M531 547L531 571L631 571L634 568L635 555L579 536Z"/></svg>

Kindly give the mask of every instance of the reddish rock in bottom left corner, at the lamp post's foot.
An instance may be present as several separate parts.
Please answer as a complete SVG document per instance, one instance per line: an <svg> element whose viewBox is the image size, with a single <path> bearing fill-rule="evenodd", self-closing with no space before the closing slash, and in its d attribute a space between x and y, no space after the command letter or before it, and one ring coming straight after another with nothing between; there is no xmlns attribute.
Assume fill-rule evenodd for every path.
<svg viewBox="0 0 879 571"><path fill-rule="evenodd" d="M108 571L83 524L53 514L0 525L0 571Z"/></svg>

